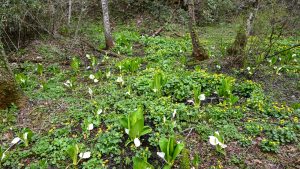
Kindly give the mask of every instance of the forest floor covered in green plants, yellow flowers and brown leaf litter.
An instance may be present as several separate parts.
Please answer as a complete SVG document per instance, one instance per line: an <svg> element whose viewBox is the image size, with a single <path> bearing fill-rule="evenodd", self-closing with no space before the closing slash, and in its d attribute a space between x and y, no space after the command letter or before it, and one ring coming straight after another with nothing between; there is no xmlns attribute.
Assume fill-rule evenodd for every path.
<svg viewBox="0 0 300 169"><path fill-rule="evenodd" d="M72 164L70 146L78 144L79 152L92 154L79 168L132 168L133 157L162 168L159 140L174 135L189 152L174 168L187 160L186 168L300 168L300 49L231 67L224 50L234 27L200 29L211 56L201 63L190 58L189 35L178 25L156 37L117 27L119 58L97 51L103 31L91 23L81 30L84 37L37 40L10 55L27 101L0 113L2 150L25 128L34 134L28 147L13 146L0 167L65 168ZM297 43L286 37L278 49ZM200 94L205 99L198 103ZM152 132L140 137L141 146L125 146L130 138L120 120L138 106ZM216 131L227 145L224 154L208 141Z"/></svg>

